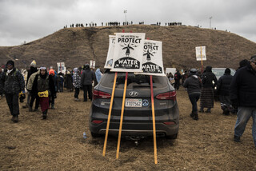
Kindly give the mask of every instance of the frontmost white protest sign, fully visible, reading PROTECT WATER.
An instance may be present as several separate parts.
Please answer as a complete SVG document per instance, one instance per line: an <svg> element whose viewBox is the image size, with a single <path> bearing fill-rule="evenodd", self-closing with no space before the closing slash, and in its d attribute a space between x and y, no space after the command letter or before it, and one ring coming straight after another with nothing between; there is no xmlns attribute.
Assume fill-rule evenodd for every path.
<svg viewBox="0 0 256 171"><path fill-rule="evenodd" d="M111 71L142 72L144 39L142 33L117 33Z"/></svg>

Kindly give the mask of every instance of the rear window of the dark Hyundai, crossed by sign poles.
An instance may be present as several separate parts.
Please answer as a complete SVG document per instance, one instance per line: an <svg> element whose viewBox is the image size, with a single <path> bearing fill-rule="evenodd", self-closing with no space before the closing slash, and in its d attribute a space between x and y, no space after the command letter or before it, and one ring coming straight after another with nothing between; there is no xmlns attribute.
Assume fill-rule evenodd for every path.
<svg viewBox="0 0 256 171"><path fill-rule="evenodd" d="M118 78L116 82L117 88L123 88L126 80L126 73L118 73ZM152 76L154 88L163 88L168 84L168 79L163 76ZM114 72L106 73L102 77L102 86L113 87L114 84ZM127 89L136 89L136 88L148 88L150 89L150 76L128 73L127 78Z"/></svg>

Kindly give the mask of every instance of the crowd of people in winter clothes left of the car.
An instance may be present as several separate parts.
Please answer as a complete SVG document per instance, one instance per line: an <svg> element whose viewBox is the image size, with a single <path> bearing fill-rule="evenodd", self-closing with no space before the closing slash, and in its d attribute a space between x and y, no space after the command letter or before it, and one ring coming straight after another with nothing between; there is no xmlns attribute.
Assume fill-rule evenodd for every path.
<svg viewBox="0 0 256 171"><path fill-rule="evenodd" d="M63 92L63 87L66 87L67 91L74 91L74 101L79 101L80 89L84 91L83 101L87 101L88 97L92 101L92 83L97 85L102 77L101 71L97 69L94 73L90 70L89 64L62 74L57 73L53 67L50 67L49 71L46 66L37 68L36 62L33 61L24 77L21 71L14 67L14 61L10 60L6 63L5 69L0 70L0 97L6 97L12 115L11 120L14 122L18 122L18 101L24 101L25 94L26 104L22 105L22 108L28 108L29 112L38 112L40 106L42 119L46 119L48 109L55 109L54 99L57 98L57 93Z"/></svg>

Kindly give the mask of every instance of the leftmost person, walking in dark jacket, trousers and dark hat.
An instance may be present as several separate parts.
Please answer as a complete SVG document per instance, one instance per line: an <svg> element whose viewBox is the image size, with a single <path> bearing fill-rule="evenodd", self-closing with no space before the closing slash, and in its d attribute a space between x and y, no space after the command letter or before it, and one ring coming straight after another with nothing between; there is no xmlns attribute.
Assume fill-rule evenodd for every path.
<svg viewBox="0 0 256 171"><path fill-rule="evenodd" d="M13 116L11 121L18 122L18 93L24 92L25 82L22 74L14 67L14 61L6 63L6 70L0 77L0 89L3 89L6 95L6 102Z"/></svg>

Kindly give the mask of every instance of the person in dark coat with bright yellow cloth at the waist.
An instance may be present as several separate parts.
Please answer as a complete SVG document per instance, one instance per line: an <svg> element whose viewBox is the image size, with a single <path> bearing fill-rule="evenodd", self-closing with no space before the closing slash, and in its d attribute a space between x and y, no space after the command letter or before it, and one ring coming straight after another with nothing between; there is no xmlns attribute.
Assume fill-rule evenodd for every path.
<svg viewBox="0 0 256 171"><path fill-rule="evenodd" d="M32 93L38 93L39 104L42 109L42 119L46 119L49 109L49 94L56 93L54 78L47 74L46 67L40 67L38 73L31 75L27 87L31 89Z"/></svg>

